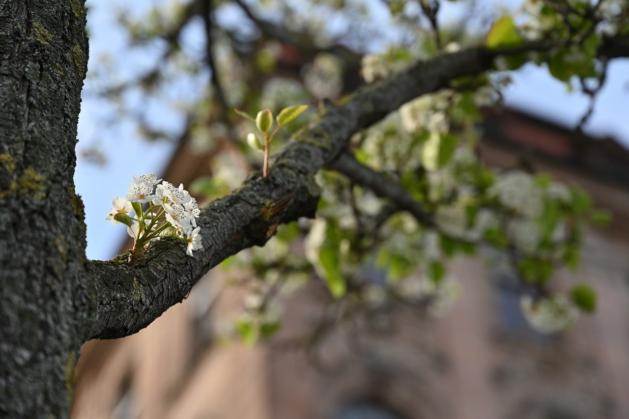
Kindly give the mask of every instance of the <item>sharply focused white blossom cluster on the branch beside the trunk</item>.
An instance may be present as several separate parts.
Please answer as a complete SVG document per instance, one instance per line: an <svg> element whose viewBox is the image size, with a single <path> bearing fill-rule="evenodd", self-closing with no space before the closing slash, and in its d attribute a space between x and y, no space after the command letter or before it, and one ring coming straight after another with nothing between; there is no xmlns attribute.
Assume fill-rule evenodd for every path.
<svg viewBox="0 0 629 419"><path fill-rule="evenodd" d="M111 206L105 219L127 225L127 232L135 239L134 250L142 250L148 242L160 237L175 237L186 242L186 253L190 256L194 250L203 249L201 227L196 225L201 211L196 199L182 184L175 187L162 182L155 173L135 175L126 197L114 198ZM130 216L131 211L133 216Z"/></svg>

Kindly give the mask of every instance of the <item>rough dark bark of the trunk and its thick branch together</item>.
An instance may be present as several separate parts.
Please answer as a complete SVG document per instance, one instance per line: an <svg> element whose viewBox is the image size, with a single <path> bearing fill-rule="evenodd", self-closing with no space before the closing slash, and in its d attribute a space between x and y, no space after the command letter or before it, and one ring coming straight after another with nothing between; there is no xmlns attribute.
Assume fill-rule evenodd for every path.
<svg viewBox="0 0 629 419"><path fill-rule="evenodd" d="M423 217L404 191L378 186L386 179L339 157L349 138L416 96L489 69L498 53L518 52L472 48L442 55L343 104L327 104L277 155L267 179L254 173L204 208L204 249L194 258L184 255L181 242L162 240L130 267L126 257L87 262L85 256L84 214L72 181L87 62L83 2L0 0L1 417L68 416L83 342L141 330L221 260L264 245L279 223L313 216L314 175L323 167L345 167L340 171ZM608 40L600 52L626 55L627 45ZM287 197L274 213L274 203Z"/></svg>

